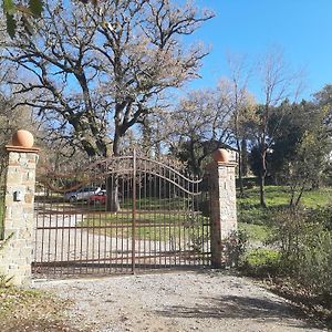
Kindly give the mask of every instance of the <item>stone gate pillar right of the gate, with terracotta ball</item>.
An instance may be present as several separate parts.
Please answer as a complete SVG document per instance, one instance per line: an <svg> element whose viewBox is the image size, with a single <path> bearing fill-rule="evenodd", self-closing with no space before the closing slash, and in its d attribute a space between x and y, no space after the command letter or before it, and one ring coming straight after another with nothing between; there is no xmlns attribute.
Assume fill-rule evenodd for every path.
<svg viewBox="0 0 332 332"><path fill-rule="evenodd" d="M226 151L222 154L224 159L218 153L214 154L214 162L209 165L211 264L216 268L225 267L229 262L227 241L237 231L237 164L228 160Z"/></svg>

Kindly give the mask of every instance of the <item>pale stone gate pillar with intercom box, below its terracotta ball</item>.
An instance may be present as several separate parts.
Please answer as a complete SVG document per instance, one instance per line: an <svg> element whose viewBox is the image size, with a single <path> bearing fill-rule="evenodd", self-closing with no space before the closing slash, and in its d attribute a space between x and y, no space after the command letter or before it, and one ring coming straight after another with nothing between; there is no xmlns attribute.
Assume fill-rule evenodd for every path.
<svg viewBox="0 0 332 332"><path fill-rule="evenodd" d="M39 149L32 147L33 137L31 146L22 146L20 142L6 146L8 162L3 226L4 239L9 240L0 250L0 274L11 278L10 282L14 286L28 286L31 283L33 201Z"/></svg>

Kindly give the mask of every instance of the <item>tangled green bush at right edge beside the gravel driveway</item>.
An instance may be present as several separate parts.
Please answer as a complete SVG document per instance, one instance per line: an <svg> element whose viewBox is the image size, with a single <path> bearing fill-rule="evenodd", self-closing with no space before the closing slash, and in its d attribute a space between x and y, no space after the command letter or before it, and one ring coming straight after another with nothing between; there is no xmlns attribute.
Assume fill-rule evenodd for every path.
<svg viewBox="0 0 332 332"><path fill-rule="evenodd" d="M280 248L280 271L318 295L332 294L332 231L325 212L288 209L274 218L272 241ZM329 222L328 222L329 224Z"/></svg>

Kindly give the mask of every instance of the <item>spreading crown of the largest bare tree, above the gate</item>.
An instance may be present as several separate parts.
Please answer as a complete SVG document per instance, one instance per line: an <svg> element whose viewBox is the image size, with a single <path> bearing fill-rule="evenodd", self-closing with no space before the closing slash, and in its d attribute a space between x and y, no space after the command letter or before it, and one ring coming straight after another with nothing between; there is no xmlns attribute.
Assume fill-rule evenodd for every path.
<svg viewBox="0 0 332 332"><path fill-rule="evenodd" d="M34 92L24 104L54 132L90 156L118 155L159 95L196 76L206 52L178 37L211 17L168 0L49 1L35 34L19 30L6 59L25 72L17 93Z"/></svg>

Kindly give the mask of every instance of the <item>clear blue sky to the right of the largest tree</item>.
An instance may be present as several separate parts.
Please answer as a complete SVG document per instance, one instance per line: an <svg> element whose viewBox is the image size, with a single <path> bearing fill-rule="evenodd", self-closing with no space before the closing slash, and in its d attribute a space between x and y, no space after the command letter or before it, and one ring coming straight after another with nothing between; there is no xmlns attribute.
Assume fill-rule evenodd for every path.
<svg viewBox="0 0 332 332"><path fill-rule="evenodd" d="M204 60L203 79L190 87L214 86L228 74L227 52L251 60L280 48L284 60L304 70L303 97L332 83L332 0L196 0L216 18L206 22L195 40L211 45ZM257 86L251 86L256 92ZM258 96L259 97L259 96Z"/></svg>

